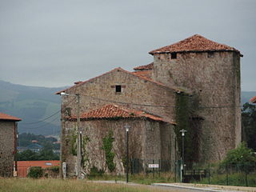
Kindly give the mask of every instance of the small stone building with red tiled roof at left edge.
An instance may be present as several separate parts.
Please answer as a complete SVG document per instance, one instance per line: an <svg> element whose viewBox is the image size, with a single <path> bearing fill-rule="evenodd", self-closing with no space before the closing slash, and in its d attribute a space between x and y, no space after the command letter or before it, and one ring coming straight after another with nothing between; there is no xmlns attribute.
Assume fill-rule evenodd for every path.
<svg viewBox="0 0 256 192"><path fill-rule="evenodd" d="M15 118L9 114L0 113L0 177L12 177L14 166L14 154L17 147L17 122L20 118Z"/></svg>

